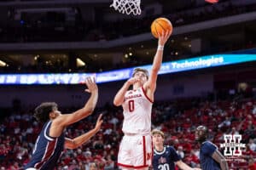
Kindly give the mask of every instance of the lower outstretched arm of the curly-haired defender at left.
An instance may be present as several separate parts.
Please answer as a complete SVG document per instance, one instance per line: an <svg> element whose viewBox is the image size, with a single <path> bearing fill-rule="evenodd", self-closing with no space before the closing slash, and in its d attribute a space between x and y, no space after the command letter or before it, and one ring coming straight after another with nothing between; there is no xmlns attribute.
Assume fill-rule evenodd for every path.
<svg viewBox="0 0 256 170"><path fill-rule="evenodd" d="M94 136L101 129L102 122L103 121L102 121L102 114L101 114L97 119L96 126L94 129L91 129L88 133L84 133L75 139L66 138L65 148L75 149L75 148L78 148L80 145L84 144L85 142L87 142L88 140L90 140L90 138Z"/></svg>

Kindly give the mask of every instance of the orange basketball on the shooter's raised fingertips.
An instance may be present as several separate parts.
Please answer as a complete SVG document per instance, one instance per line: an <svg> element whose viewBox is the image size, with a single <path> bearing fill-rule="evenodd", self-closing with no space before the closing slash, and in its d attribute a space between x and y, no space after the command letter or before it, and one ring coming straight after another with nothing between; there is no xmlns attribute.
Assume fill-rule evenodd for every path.
<svg viewBox="0 0 256 170"><path fill-rule="evenodd" d="M166 31L171 31L172 34L172 23L166 18L155 19L151 24L151 33L154 37L158 38L158 34L162 34Z"/></svg>

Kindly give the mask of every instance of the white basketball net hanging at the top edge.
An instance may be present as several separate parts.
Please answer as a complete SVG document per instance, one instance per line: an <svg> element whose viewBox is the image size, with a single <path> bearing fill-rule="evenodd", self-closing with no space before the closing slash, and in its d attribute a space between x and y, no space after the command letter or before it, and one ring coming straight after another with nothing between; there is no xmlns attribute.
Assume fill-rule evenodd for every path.
<svg viewBox="0 0 256 170"><path fill-rule="evenodd" d="M110 7L113 7L115 10L119 11L122 14L141 14L141 0L113 0L113 3Z"/></svg>

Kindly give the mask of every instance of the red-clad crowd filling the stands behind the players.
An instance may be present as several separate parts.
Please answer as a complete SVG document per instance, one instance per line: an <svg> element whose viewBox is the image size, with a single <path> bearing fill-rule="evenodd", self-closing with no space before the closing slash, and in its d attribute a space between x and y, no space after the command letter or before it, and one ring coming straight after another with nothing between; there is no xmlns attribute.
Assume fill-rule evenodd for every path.
<svg viewBox="0 0 256 170"><path fill-rule="evenodd" d="M60 108L63 113L75 108ZM122 110L106 105L67 128L66 136L73 138L94 127L99 113L104 115L102 130L90 142L76 150L65 150L58 169L88 170L117 169L117 152L123 135ZM224 143L224 134L241 134L242 155L228 161L230 170L256 169L256 100L207 101L202 99L176 99L155 103L152 111L152 128L166 134L166 144L172 144L183 161L191 167L199 167L199 144L195 142L195 127L207 126L209 139ZM41 125L32 117L32 108L14 107L6 110L0 120L0 169L20 169L32 154L33 144ZM239 159L238 159L239 158Z"/></svg>

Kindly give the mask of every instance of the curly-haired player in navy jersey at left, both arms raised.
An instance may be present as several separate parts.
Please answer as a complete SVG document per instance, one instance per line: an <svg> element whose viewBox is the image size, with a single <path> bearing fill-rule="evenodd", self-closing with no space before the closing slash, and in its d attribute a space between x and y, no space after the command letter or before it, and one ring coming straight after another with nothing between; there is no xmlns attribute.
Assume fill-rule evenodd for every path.
<svg viewBox="0 0 256 170"><path fill-rule="evenodd" d="M85 84L90 93L90 99L82 109L72 114L61 114L58 111L57 104L54 102L45 102L39 105L35 110L35 117L39 122L44 122L44 127L38 136L31 160L26 164L26 170L51 170L61 156L62 150L75 149L88 141L96 134L102 125L102 115L97 119L96 126L88 133L84 133L75 139L64 137L64 130L68 125L78 122L84 117L89 116L96 107L98 99L98 88L94 79L86 78Z"/></svg>

